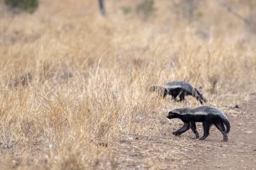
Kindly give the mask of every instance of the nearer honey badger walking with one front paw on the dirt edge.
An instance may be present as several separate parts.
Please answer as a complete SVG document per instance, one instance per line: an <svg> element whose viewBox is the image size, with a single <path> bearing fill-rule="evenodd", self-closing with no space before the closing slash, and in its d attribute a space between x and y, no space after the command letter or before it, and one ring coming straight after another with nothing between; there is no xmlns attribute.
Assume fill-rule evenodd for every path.
<svg viewBox="0 0 256 170"><path fill-rule="evenodd" d="M228 132L230 131L230 124L226 115L219 109L215 109L211 106L199 106L197 108L180 108L173 109L167 115L168 119L179 118L184 122L184 125L177 131L173 131L172 134L178 136L191 128L196 134L196 138L199 140L205 139L209 136L210 126L214 124L223 134L223 140L228 141ZM199 134L196 131L195 122L203 122L204 136L199 138ZM226 129L225 129L225 126Z"/></svg>

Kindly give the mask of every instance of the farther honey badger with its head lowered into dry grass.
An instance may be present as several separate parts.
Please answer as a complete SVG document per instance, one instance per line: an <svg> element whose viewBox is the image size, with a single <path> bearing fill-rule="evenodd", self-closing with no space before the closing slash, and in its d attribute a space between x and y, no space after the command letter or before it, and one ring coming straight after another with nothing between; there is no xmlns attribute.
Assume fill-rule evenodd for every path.
<svg viewBox="0 0 256 170"><path fill-rule="evenodd" d="M196 88L184 81L172 81L165 84L156 84L150 88L150 91L160 91L161 94L164 94L163 98L167 94L172 95L173 100L176 100L177 96L179 96L180 102L184 100L187 95L196 97L201 104L203 104L203 101L206 102L206 99Z"/></svg>

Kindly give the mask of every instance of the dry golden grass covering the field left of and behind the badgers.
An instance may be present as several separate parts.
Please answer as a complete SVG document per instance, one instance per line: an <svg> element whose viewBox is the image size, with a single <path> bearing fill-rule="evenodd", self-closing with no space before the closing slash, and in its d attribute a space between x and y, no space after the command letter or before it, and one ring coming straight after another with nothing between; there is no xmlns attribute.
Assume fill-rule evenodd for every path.
<svg viewBox="0 0 256 170"><path fill-rule="evenodd" d="M201 2L192 22L169 1L156 3L147 20L124 15L124 4L136 8L110 0L106 18L92 0L40 1L33 15L1 4L1 168L175 167L165 161L180 158L184 146L165 116L200 103L161 100L148 87L187 81L219 108L255 92L255 35L218 3ZM250 4L231 4L250 15ZM134 149L142 153L136 159Z"/></svg>

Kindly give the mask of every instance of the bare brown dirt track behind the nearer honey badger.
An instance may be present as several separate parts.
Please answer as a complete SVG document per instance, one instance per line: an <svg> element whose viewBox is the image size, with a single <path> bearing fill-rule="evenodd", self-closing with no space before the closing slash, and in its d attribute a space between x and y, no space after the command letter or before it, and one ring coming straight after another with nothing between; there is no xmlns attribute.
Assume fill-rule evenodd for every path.
<svg viewBox="0 0 256 170"><path fill-rule="evenodd" d="M228 115L231 131L227 143L215 138L196 141L198 152L189 152L187 169L256 169L256 102L248 102ZM221 138L211 128L211 136Z"/></svg>

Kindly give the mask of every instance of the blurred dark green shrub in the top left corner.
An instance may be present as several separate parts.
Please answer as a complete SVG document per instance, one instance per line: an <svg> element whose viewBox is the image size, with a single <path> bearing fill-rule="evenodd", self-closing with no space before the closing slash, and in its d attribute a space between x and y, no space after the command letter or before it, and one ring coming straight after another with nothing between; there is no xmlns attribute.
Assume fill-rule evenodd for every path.
<svg viewBox="0 0 256 170"><path fill-rule="evenodd" d="M33 13L38 7L38 0L4 0L12 9L21 9Z"/></svg>

